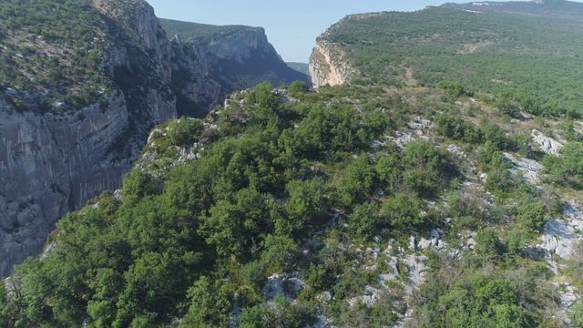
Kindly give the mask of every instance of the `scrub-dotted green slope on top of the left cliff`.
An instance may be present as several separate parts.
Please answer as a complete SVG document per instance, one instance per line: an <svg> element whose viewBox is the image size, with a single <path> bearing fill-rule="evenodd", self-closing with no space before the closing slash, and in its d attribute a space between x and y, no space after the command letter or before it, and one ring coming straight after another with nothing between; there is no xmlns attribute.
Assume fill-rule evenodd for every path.
<svg viewBox="0 0 583 328"><path fill-rule="evenodd" d="M20 110L44 111L49 104L93 104L107 91L101 65L105 24L86 0L6 0L0 4L0 87L46 93L38 108L22 94L6 97Z"/></svg>

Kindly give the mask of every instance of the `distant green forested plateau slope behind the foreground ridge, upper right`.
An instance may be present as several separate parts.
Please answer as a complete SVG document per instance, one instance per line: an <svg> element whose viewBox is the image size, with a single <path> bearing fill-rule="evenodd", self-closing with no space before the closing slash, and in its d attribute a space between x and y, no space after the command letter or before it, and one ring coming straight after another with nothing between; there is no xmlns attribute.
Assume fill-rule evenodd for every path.
<svg viewBox="0 0 583 328"><path fill-rule="evenodd" d="M552 4L583 11L576 3ZM353 83L404 86L414 78L435 86L454 80L495 95L506 107L580 118L583 94L576 81L583 78L583 20L580 15L552 15L551 9L539 13L546 15L523 15L442 6L354 15L322 37L338 44L361 72Z"/></svg>

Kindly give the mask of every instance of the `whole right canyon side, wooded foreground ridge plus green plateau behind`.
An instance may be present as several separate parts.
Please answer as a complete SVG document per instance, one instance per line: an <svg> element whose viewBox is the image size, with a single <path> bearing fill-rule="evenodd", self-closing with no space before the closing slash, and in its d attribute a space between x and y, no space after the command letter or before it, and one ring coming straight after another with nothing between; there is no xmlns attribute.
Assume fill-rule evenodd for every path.
<svg viewBox="0 0 583 328"><path fill-rule="evenodd" d="M0 326L583 327L578 18L467 10L349 16L317 88L153 128L0 284Z"/></svg>

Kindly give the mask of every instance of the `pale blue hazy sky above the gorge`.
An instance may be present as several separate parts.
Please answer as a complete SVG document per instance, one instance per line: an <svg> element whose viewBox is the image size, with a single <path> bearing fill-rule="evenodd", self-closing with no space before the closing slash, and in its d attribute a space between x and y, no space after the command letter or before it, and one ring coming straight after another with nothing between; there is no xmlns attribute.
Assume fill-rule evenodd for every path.
<svg viewBox="0 0 583 328"><path fill-rule="evenodd" d="M471 0L147 0L156 15L212 25L262 26L287 62L307 63L317 36L345 15L414 11ZM583 0L580 0L583 1Z"/></svg>

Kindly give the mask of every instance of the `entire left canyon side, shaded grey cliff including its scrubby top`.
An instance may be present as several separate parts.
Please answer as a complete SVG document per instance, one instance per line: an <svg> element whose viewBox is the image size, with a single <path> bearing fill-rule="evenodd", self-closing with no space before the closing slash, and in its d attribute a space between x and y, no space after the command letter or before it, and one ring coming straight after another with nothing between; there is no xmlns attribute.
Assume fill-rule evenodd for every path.
<svg viewBox="0 0 583 328"><path fill-rule="evenodd" d="M206 77L203 52L177 54L145 1L72 4L55 4L47 12L55 14L45 15L46 29L39 29L38 36L26 22L11 23L4 16L0 21L8 26L2 35L3 59L17 68L3 68L0 75L3 276L15 262L42 250L67 211L102 190L117 189L149 130L176 118L178 104L199 105L202 116L219 100L217 82ZM4 13L13 5L6 4ZM31 1L27 8L42 13L42 5ZM69 39L74 26L71 34L50 29L62 25L63 17L77 15L89 22L87 31L93 34L87 41ZM78 46L91 50L82 52ZM91 65L78 64L86 62ZM55 75L59 84L42 79L54 71L60 73Z"/></svg>

